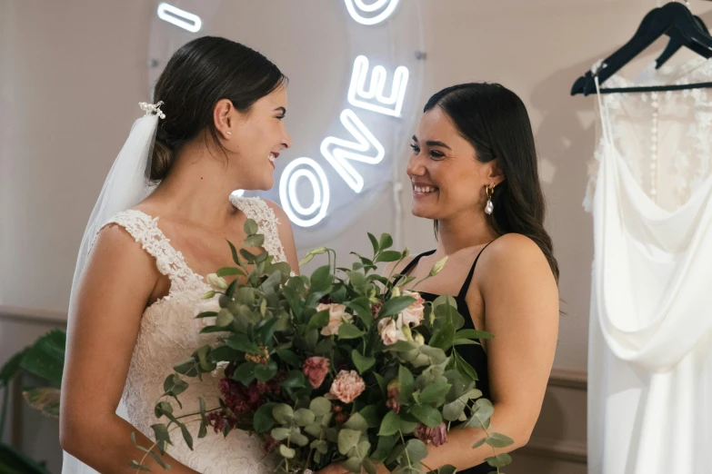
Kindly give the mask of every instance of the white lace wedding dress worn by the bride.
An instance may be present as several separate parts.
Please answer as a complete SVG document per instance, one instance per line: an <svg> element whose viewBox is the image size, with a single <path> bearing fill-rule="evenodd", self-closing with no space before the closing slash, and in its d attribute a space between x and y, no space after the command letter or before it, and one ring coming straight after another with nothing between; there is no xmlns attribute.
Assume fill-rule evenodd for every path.
<svg viewBox="0 0 712 474"><path fill-rule="evenodd" d="M275 256L276 262L286 262L284 247L277 233L278 222L266 202L259 198L235 198L231 202L258 223L260 232L265 235L265 249ZM109 223L124 227L145 252L155 257L159 272L171 281L168 295L144 311L123 395L129 422L149 439L154 439L150 425L157 422L154 407L164 393L165 377L173 372L176 362L190 358L198 347L216 341L216 334L198 334L200 325L205 322L194 318L196 303L210 287L202 276L186 265L183 254L171 246L170 240L158 227L157 217L129 210L119 212ZM217 370L204 375L202 382L191 379L188 390L180 395L183 410L173 403L175 413L198 411L198 397L206 400L206 407L216 407L220 377ZM187 425L195 435L197 422L188 422ZM224 438L208 428L206 438L197 439L194 436L192 451L179 431L173 432L171 438L174 446L168 449L170 455L204 474L258 474L273 470L270 460L264 459L265 451L260 439L242 431L233 431Z"/></svg>

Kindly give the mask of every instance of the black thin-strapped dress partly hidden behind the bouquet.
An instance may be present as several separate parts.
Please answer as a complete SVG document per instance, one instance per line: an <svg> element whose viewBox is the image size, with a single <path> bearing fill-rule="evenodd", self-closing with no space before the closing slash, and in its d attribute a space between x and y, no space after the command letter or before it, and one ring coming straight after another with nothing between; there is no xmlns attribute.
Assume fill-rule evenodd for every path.
<svg viewBox="0 0 712 474"><path fill-rule="evenodd" d="M489 245L489 243L487 243L487 245ZM467 294L467 290L470 287L472 276L475 274L475 267L477 261L479 260L479 256L482 255L482 252L486 249L487 245L485 245L485 247L477 254L475 262L472 263L472 268L470 268L470 272L467 273L467 278L465 279L465 282L462 284L462 288L460 288L460 291L457 293L457 296L455 298L455 300L457 301L457 311L462 314L463 318L465 318L465 326L463 326L463 329L476 329L475 323L472 321L472 316L470 316L470 311L467 308L465 296ZM412 262L406 265L406 268L403 269L401 274L407 275L408 272L413 270L413 268L416 266L417 262L421 259L421 257L424 257L426 255L432 255L433 253L435 253L434 250L429 252L423 252L420 255L417 255ZM396 281L398 280L400 280L400 278L396 279ZM418 292L424 300L431 302L435 301L436 298L440 296L439 294L434 293L426 293L423 291ZM477 390L481 390L482 396L488 400L491 400L489 396L489 377L487 374L487 355L485 350L482 349L482 346L471 344L457 346L457 352L459 352L462 358L465 359L467 363L469 363L476 370L477 378L479 379L477 380L476 384ZM478 440L479 439L472 439L472 444L475 444ZM492 472L493 470L496 470L496 468L493 468L489 466L486 462L484 462L478 466L475 466L474 468L459 470L457 472L465 474L487 474L489 472Z"/></svg>

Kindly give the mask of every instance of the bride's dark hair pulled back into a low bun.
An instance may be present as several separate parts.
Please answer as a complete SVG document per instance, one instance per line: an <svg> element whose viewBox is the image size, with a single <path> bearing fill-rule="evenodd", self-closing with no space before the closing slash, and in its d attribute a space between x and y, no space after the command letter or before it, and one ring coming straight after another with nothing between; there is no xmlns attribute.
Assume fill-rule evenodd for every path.
<svg viewBox="0 0 712 474"><path fill-rule="evenodd" d="M203 36L178 49L155 83L154 102L165 113L155 134L151 180L167 176L180 147L206 130L220 146L213 108L229 99L240 112L286 83L264 55L245 44ZM221 147L222 148L222 147Z"/></svg>

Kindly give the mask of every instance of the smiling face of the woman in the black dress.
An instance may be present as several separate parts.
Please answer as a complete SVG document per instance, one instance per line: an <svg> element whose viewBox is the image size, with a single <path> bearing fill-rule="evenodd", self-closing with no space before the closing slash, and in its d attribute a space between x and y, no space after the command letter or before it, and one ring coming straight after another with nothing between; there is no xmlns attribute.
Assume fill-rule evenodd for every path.
<svg viewBox="0 0 712 474"><path fill-rule="evenodd" d="M496 160L478 162L475 147L440 107L423 114L411 147L407 174L414 215L442 220L473 209L485 212L485 186L501 181L496 177Z"/></svg>

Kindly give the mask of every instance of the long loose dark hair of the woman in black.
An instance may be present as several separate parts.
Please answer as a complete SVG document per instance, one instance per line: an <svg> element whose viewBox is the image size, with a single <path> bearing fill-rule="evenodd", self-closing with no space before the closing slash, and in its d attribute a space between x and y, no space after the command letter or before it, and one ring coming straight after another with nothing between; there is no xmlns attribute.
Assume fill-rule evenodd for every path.
<svg viewBox="0 0 712 474"><path fill-rule="evenodd" d="M471 83L447 87L430 97L423 112L440 107L460 135L475 147L476 159L497 159L505 181L495 188L495 212L488 222L498 235L526 235L547 256L558 281L551 237L544 229L546 204L537 171L537 150L526 107L500 84ZM437 234L437 221L435 222Z"/></svg>

